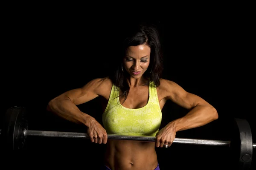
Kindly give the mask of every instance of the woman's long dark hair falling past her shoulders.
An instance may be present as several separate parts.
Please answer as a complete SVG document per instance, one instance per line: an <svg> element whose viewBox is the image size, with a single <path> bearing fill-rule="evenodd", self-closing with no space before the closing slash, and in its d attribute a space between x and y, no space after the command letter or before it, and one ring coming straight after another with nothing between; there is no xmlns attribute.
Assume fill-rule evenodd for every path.
<svg viewBox="0 0 256 170"><path fill-rule="evenodd" d="M119 51L119 56L115 62L115 69L113 70L110 79L116 88L123 92L125 99L129 93L129 85L127 78L130 76L123 68L122 62L125 57L126 49L129 46L137 46L146 44L151 48L150 63L147 71L143 74L145 79L149 82L154 82L154 86L160 85L160 76L163 71L163 55L160 45L160 37L157 31L157 27L152 24L140 23L137 25L129 25L125 27L125 35L122 40L122 44ZM120 56L121 55L121 56ZM125 101L125 100L124 100Z"/></svg>

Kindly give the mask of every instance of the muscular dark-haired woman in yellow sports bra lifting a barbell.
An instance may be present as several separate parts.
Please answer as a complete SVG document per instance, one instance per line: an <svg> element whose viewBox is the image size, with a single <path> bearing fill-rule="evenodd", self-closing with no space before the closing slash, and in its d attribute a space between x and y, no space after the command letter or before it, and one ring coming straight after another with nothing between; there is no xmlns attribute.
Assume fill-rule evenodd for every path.
<svg viewBox="0 0 256 170"><path fill-rule="evenodd" d="M113 75L57 96L48 110L87 126L91 142L107 144L106 170L159 170L155 147L169 147L177 131L206 125L218 119L218 113L201 97L160 78L162 55L155 27L129 29L121 49ZM105 100L104 127L76 106L99 96ZM159 130L169 99L189 112ZM111 140L108 134L156 136L156 141Z"/></svg>

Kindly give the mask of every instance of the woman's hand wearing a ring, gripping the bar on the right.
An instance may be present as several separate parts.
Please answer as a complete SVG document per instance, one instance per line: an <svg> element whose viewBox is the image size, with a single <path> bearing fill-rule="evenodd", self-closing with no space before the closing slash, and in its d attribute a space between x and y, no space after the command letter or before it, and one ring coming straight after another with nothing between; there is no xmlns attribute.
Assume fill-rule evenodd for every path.
<svg viewBox="0 0 256 170"><path fill-rule="evenodd" d="M169 123L165 127L163 127L156 136L156 147L163 147L164 145L171 146L176 136L176 131L174 125Z"/></svg>

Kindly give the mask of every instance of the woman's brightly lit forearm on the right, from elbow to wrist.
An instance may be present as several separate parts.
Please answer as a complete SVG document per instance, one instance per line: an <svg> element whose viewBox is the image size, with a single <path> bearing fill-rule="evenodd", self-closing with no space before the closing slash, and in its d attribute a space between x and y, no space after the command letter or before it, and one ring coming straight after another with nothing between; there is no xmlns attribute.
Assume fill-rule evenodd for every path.
<svg viewBox="0 0 256 170"><path fill-rule="evenodd" d="M196 106L185 116L175 119L168 125L176 132L206 125L218 119L218 113L212 106Z"/></svg>

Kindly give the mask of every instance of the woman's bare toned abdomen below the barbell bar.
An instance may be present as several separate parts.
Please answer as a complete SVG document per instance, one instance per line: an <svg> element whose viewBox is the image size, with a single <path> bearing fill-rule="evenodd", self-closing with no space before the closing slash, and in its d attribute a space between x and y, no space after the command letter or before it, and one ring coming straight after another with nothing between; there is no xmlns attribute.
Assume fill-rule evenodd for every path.
<svg viewBox="0 0 256 170"><path fill-rule="evenodd" d="M155 142L108 139L105 165L111 170L154 170Z"/></svg>

